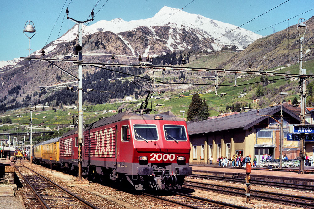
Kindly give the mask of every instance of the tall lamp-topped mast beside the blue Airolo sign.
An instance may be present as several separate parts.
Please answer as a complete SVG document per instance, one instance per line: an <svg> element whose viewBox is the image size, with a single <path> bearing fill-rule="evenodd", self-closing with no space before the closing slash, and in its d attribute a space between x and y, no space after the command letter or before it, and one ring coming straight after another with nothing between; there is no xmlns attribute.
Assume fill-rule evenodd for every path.
<svg viewBox="0 0 314 209"><path fill-rule="evenodd" d="M300 22L301 20L301 22ZM299 23L300 22L300 23ZM299 30L299 28L305 28L304 34L306 32L306 22L305 19L300 18L298 20L297 24L297 30L299 33L299 38L300 38L300 60L299 60L299 66L300 66L300 74L301 75L306 75L306 69L303 69L303 42L304 42L304 34L301 36L302 32ZM299 78L299 89L300 89L300 99L301 99L301 124L305 124L305 101L306 101L306 79L304 77ZM305 135L301 135L301 140L300 140L300 167L299 167L299 174L304 174L304 140L305 140Z"/></svg>

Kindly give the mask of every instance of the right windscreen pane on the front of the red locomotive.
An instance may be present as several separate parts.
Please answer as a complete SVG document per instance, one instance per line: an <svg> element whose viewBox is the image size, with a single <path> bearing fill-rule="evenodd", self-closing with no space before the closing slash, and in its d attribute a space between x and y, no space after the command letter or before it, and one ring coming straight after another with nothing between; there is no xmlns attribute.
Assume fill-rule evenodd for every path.
<svg viewBox="0 0 314 209"><path fill-rule="evenodd" d="M184 126L164 125L164 132L167 141L187 141L187 134Z"/></svg>

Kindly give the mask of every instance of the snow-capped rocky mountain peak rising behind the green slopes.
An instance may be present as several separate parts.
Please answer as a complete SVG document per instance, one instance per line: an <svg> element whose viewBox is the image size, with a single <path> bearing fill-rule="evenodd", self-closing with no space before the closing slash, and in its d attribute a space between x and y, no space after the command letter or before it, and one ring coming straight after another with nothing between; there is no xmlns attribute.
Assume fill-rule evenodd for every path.
<svg viewBox="0 0 314 209"><path fill-rule="evenodd" d="M78 26L75 25L48 44L45 50L52 52L64 42L76 39L77 35ZM235 25L166 6L148 19L127 22L116 18L83 26L83 36L83 51L86 54L129 56L160 55L173 50L194 50L200 46L203 46L201 50L207 51L220 50L224 46L236 46L241 50L262 37ZM62 56L62 51L57 54Z"/></svg>

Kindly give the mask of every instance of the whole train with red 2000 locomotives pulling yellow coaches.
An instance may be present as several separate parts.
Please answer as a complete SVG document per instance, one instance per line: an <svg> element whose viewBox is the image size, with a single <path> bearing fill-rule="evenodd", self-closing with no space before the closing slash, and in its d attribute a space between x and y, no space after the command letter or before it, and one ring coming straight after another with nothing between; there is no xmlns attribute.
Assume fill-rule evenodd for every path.
<svg viewBox="0 0 314 209"><path fill-rule="evenodd" d="M83 174L92 179L108 177L136 190L180 189L184 176L192 173L186 123L171 112L128 110L90 124L83 136ZM44 162L44 154L50 154L45 156L53 157L54 165L77 170L78 130L33 149L34 162Z"/></svg>

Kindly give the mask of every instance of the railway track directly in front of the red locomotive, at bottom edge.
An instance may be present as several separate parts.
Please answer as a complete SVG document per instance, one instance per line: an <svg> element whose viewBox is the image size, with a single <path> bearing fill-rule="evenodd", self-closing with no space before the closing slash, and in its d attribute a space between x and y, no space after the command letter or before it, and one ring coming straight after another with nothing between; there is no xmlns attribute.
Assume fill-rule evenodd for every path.
<svg viewBox="0 0 314 209"><path fill-rule="evenodd" d="M236 208L236 209L249 209L248 207L238 206L226 202L220 202L215 200L209 200L202 197L187 195L175 191L166 191L163 196L156 196L153 194L144 193L144 196L149 198L153 198L159 201L164 201L170 203L172 205L180 206L183 208L213 208L213 209L220 209L220 208Z"/></svg>

